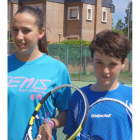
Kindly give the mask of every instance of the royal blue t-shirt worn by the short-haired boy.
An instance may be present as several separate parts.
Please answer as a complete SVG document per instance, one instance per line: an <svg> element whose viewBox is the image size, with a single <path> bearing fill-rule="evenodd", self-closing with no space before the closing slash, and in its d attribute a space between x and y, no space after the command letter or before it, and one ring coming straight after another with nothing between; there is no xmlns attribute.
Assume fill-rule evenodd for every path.
<svg viewBox="0 0 140 140"><path fill-rule="evenodd" d="M114 98L126 103L128 106L132 105L132 87L119 84L119 87L117 89L107 92L91 91L89 87L90 85L81 88L87 96L89 105L93 104L101 97ZM77 107L82 109L82 107L80 107L82 106L81 104L82 99L80 96L78 97L78 93L76 91L72 95L70 101L66 125L63 131L66 135L71 136L75 132L75 128L77 128L79 125L78 118L81 116L81 114L80 112L78 112L79 114L77 115ZM114 112L111 113L118 116L118 120L111 120L112 117L110 116L110 113L106 110L106 108L107 107L105 107L105 109L102 109L100 112L93 110L94 108L89 111L87 121L85 123L85 126L83 127L83 130L81 131L80 140L86 140L88 138L92 138L95 140L125 140L127 136L121 134L123 132L123 127L121 127L122 124L126 126L126 131L129 135L129 138L130 140L132 139L132 122L130 121L130 118L128 118L129 116L127 115L127 113L125 113L127 115L125 122L121 122L121 119L119 120L119 117L121 117L120 113L113 110ZM104 121L107 122L106 126Z"/></svg>

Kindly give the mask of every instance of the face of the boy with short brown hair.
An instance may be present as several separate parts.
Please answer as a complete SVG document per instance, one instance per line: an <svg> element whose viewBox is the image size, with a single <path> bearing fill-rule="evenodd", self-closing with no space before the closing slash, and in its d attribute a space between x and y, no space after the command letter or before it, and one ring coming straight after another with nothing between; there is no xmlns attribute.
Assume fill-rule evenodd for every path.
<svg viewBox="0 0 140 140"><path fill-rule="evenodd" d="M107 56L106 54L95 51L93 58L91 58L93 64L94 74L97 79L97 83L100 85L109 86L111 84L117 84L117 78L122 68L126 64L121 63L120 59Z"/></svg>

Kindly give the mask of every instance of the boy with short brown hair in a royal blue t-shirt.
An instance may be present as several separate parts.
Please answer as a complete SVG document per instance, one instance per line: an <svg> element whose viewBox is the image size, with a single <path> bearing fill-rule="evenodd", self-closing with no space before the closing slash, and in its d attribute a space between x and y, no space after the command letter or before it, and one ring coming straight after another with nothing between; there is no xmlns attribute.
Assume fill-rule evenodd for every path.
<svg viewBox="0 0 140 140"><path fill-rule="evenodd" d="M97 101L99 98L114 98L120 100L127 105L132 104L132 87L125 86L118 82L118 76L120 71L125 67L127 61L127 54L130 52L130 45L128 39L111 30L105 30L99 32L91 42L89 46L91 52L91 63L93 65L94 75L97 79L95 84L82 87L81 89L86 94L89 105ZM71 98L71 104L78 102L78 97L73 94ZM70 104L70 106L71 106ZM75 108L69 109L67 114L66 125L64 133L68 137L74 132L74 126L71 121L74 116ZM96 113L96 112L95 112ZM90 114L90 113L89 113ZM129 119L125 120L125 125L128 126L129 136L127 137L123 133L118 120L111 120L111 117L91 117L88 114L88 119L83 128L80 140L83 139L95 139L95 140L123 140L132 139L132 124ZM117 113L118 115L119 113ZM112 114L113 115L113 114ZM96 115L103 116L103 115ZM105 116L105 115L104 115ZM106 115L107 116L107 115ZM108 115L110 116L110 115ZM119 115L118 115L119 117ZM106 133L101 130L104 126L104 121L108 121L105 127ZM76 123L76 119L74 120ZM99 131L96 131L100 126ZM112 127L115 128L115 132L112 132ZM71 130L71 131L69 131Z"/></svg>

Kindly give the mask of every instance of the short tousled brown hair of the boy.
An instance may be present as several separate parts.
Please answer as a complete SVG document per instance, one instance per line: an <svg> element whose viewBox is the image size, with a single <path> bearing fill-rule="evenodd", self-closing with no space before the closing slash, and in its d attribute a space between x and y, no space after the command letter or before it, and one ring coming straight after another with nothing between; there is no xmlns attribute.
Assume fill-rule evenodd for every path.
<svg viewBox="0 0 140 140"><path fill-rule="evenodd" d="M99 32L89 46L91 57L94 52L105 53L108 56L121 59L123 63L127 54L130 52L130 44L127 37L112 30Z"/></svg>

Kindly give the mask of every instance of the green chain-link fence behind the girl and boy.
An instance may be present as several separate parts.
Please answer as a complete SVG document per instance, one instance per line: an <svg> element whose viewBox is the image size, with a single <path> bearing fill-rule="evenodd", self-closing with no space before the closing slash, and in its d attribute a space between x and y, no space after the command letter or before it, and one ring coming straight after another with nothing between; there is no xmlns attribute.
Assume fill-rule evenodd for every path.
<svg viewBox="0 0 140 140"><path fill-rule="evenodd" d="M93 66L90 61L90 50L88 46L49 44L49 55L62 61L68 68L71 80L96 81ZM127 64L122 70L119 81L132 83L132 51L128 54Z"/></svg>

